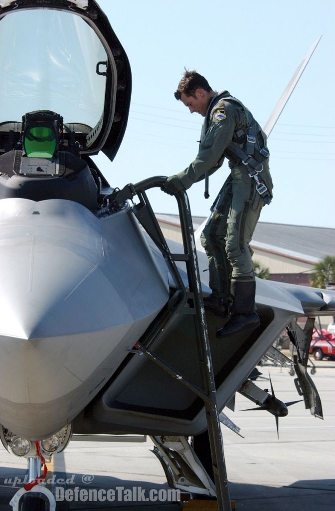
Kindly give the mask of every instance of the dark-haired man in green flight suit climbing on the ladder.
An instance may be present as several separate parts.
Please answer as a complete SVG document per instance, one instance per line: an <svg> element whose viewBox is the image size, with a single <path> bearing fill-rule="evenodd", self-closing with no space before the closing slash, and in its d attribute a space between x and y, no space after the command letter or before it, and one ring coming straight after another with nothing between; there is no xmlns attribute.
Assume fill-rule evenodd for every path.
<svg viewBox="0 0 335 511"><path fill-rule="evenodd" d="M229 160L230 175L201 235L212 291L204 298L204 305L228 319L217 337L252 331L260 321L255 310L253 252L249 244L261 208L272 199L273 188L266 135L239 100L227 90L212 90L195 71L185 69L175 98L205 119L195 160L184 171L168 177L162 190L170 195L187 190L218 170L225 157Z"/></svg>

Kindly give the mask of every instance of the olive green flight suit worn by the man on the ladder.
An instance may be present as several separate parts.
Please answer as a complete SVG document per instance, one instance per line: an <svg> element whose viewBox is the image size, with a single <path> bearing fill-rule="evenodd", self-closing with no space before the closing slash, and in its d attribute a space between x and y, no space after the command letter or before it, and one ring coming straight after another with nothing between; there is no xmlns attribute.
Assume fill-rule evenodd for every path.
<svg viewBox="0 0 335 511"><path fill-rule="evenodd" d="M255 280L249 243L265 201L256 191L255 179L249 177L246 165L227 150L233 136L236 138L236 134L241 136L241 130L246 131L246 112L243 106L225 100L221 94L224 93L209 102L196 159L175 179L188 189L203 179L205 172L212 174L221 167L225 156L229 158L231 173L212 206L212 214L201 235L209 260L209 287L213 295L229 303L231 282ZM261 159L264 169L259 177L271 194L269 158Z"/></svg>

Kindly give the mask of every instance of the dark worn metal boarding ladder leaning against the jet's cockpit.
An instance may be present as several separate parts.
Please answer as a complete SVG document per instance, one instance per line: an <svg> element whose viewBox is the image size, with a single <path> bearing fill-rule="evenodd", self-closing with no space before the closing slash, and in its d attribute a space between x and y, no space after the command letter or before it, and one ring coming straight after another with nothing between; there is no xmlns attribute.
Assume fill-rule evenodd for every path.
<svg viewBox="0 0 335 511"><path fill-rule="evenodd" d="M155 318L149 329L135 344L134 348L139 353L149 357L155 364L169 373L173 378L177 379L182 385L192 390L203 400L207 419L218 509L219 511L230 511L231 505L219 411L217 407L216 386L214 382L197 251L188 197L185 190L181 190L175 194L179 208L184 252L171 253L146 195L146 190L161 187L165 180L166 177L156 176L136 184L130 183L122 190L116 189L109 197L111 204L116 203L115 205L120 206L126 200L133 199L137 195L139 203L133 205L132 211L162 253L176 285L176 290L170 297L168 306ZM181 279L175 263L176 261L183 261L186 264L188 290L185 288ZM159 338L163 329L167 327L176 313L194 315L202 388L189 381L180 374L180 371L177 372L170 364L164 362L164 360L150 350L150 346Z"/></svg>

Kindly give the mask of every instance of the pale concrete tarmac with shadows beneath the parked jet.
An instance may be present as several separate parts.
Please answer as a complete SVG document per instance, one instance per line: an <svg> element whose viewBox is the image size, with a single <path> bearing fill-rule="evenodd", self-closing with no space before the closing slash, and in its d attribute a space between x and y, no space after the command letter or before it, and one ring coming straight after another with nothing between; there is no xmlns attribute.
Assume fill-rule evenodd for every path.
<svg viewBox="0 0 335 511"><path fill-rule="evenodd" d="M222 428L230 498L237 511L330 511L335 508L335 362L316 363L312 379L319 391L324 420L316 419L304 403L289 408L289 415L279 419L279 440L275 418L266 411L241 411L253 403L238 394L235 412L225 410L241 428L244 438ZM276 397L284 402L299 398L294 377L288 368L258 367L262 377L256 384L270 388L269 371ZM309 370L310 372L310 370ZM152 443L71 442L57 455L47 477L73 477L67 488L116 489L140 487L149 492L168 488L157 458L150 452ZM26 462L0 448L0 511L10 510L9 500L20 484L13 478L26 474ZM84 477L88 475L88 477ZM91 477L90 477L91 476ZM12 483L6 482L12 478ZM82 482L82 481L86 481ZM57 483L55 483L57 484ZM55 492L55 485L53 491ZM121 490L118 490L119 492ZM132 492L133 490L131 490ZM129 495L129 494L128 494ZM181 505L157 502L85 503L58 502L57 510L130 508L181 509ZM205 509L205 508L202 508Z"/></svg>

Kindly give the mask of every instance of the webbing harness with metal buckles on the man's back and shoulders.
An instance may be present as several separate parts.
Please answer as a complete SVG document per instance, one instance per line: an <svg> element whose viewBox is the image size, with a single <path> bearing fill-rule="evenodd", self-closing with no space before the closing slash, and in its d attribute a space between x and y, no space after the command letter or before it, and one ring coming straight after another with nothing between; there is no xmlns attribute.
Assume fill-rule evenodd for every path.
<svg viewBox="0 0 335 511"><path fill-rule="evenodd" d="M227 95L228 94L228 95ZM251 112L244 106L244 104L233 96L229 95L229 92L225 91L218 96L215 96L213 100L218 101L219 99L228 101L234 101L238 105L242 106L245 111L248 125L245 128L234 131L232 142L224 151L224 156L228 158L230 155L235 156L241 160L242 163L247 167L249 177L252 177L256 181L256 190L266 204L270 204L272 196L268 190L266 184L259 178L260 172L263 170L262 161L267 159L270 155L268 148L266 147L266 135L261 130L259 124L253 118ZM206 131L208 130L209 118L211 113L211 107L209 106L206 114ZM258 134L264 141L264 146L260 145ZM242 147L241 147L242 146ZM258 154L258 161L255 159L255 152ZM227 153L227 154L226 154ZM205 197L209 197L208 194L208 174L205 174Z"/></svg>

